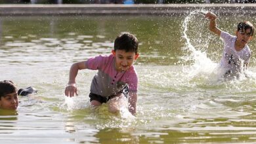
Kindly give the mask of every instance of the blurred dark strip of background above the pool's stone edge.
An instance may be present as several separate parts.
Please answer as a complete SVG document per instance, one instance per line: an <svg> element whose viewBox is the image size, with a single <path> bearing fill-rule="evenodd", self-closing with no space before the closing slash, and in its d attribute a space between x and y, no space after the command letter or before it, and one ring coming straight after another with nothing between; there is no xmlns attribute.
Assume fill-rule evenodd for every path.
<svg viewBox="0 0 256 144"><path fill-rule="evenodd" d="M256 3L256 0L1 0L0 4Z"/></svg>

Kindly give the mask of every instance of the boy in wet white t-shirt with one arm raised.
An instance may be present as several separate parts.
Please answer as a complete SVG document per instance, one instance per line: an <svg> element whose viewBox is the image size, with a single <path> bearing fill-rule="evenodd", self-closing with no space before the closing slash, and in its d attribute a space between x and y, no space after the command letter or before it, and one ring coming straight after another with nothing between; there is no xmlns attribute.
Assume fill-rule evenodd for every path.
<svg viewBox="0 0 256 144"><path fill-rule="evenodd" d="M217 16L213 12L207 12L205 18L210 20L209 30L219 35L224 41L221 58L221 67L225 71L224 78L238 78L247 69L251 57L251 50L247 43L253 38L255 27L251 22L240 22L237 26L236 36L233 36L217 27Z"/></svg>

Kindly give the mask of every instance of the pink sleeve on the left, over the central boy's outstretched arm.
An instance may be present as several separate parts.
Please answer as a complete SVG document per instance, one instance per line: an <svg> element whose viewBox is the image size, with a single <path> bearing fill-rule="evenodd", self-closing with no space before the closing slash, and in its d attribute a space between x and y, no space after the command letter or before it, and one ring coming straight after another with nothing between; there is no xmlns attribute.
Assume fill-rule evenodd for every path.
<svg viewBox="0 0 256 144"><path fill-rule="evenodd" d="M106 56L101 56L101 55L96 56L95 58L90 58L89 60L87 60L85 62L85 65L87 69L92 69L92 70L101 69L102 65L104 65L106 58L107 58Z"/></svg>

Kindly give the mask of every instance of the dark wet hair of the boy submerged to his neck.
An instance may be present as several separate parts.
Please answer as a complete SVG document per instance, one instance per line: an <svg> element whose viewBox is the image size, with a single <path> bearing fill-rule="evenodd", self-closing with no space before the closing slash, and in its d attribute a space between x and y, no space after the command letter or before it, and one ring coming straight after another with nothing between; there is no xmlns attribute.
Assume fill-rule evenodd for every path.
<svg viewBox="0 0 256 144"><path fill-rule="evenodd" d="M17 92L17 88L12 81L0 81L0 99L13 92Z"/></svg>

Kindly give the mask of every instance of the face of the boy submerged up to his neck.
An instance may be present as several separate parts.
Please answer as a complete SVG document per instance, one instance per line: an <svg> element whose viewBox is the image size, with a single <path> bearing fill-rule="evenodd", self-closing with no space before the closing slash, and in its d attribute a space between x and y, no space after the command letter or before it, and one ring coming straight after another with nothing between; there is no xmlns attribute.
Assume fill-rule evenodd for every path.
<svg viewBox="0 0 256 144"><path fill-rule="evenodd" d="M16 110L18 107L18 94L13 92L0 98L0 108Z"/></svg>

